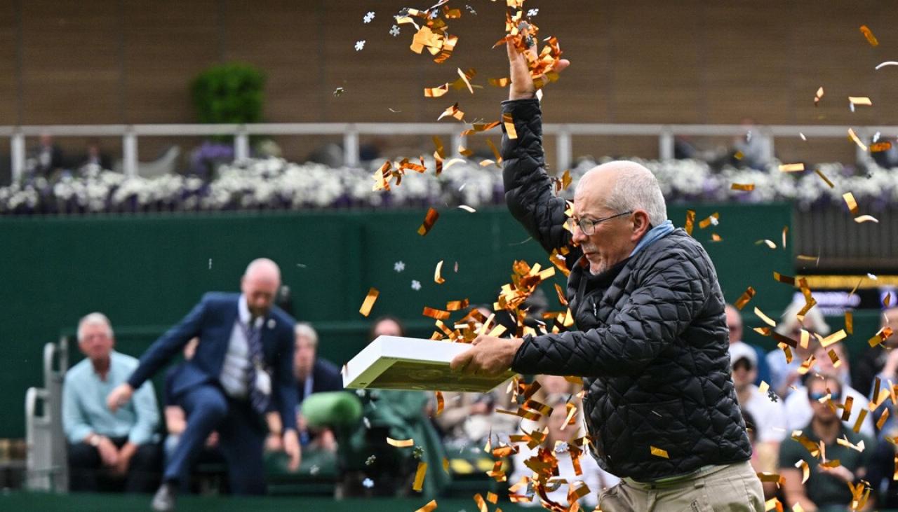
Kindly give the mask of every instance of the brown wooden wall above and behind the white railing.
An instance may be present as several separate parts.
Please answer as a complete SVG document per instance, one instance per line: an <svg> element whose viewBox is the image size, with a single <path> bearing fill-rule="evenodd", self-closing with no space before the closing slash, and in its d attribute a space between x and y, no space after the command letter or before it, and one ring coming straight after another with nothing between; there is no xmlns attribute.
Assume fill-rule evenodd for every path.
<svg viewBox="0 0 898 512"><path fill-rule="evenodd" d="M430 122L456 101L467 121L492 120L507 94L486 84L507 74L504 50L490 49L503 34L502 2L471 4L474 14L453 1L464 9L462 19L449 22L460 40L442 65L409 50L410 25L402 25L398 37L389 34L392 15L408 0L20 4L21 28L14 9L0 10L0 94L16 98L21 29L22 122L29 124L193 122L189 82L207 65L229 60L268 74L265 118L273 122ZM898 67L873 70L898 55L898 39L889 32L898 8L891 5L566 0L528 6L537 7L541 38L558 36L573 63L546 92L546 122L735 124L751 117L769 124L859 126L898 117L898 103L890 101L898 92ZM375 13L371 23L362 22L367 11ZM861 24L874 30L879 47L867 44ZM356 51L360 39L365 48ZM474 95L450 91L424 98L424 87L453 81L456 68L471 67L477 70L473 82L483 86ZM826 95L814 108L821 85ZM337 87L345 90L340 97L333 95ZM848 95L870 96L874 108L852 113ZM17 101L0 104L6 123L17 122ZM290 159L330 140L277 138ZM432 145L428 135L383 134L368 141L402 151L429 151ZM142 140L142 158L170 142ZM655 157L657 143L580 137L575 145L575 154L635 152ZM796 136L779 141L777 152L788 161L853 159L850 142L835 139L805 143Z"/></svg>

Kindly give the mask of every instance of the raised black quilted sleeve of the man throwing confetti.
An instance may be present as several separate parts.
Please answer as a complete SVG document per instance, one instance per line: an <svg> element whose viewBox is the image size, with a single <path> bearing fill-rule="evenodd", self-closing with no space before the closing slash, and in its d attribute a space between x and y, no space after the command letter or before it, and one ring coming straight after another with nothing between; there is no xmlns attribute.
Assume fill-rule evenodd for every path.
<svg viewBox="0 0 898 512"><path fill-rule="evenodd" d="M566 204L552 193L545 170L539 100L503 101L502 114L514 120L517 133L516 138L509 137L502 124L502 178L508 210L546 252L569 245L570 232L564 229Z"/></svg>

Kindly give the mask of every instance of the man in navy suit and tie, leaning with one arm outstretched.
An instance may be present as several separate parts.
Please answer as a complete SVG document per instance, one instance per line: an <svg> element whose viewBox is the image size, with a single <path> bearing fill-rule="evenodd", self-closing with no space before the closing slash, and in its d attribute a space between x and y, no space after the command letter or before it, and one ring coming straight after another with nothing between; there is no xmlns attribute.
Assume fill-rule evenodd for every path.
<svg viewBox="0 0 898 512"><path fill-rule="evenodd" d="M299 467L296 434L296 383L293 375L295 321L273 306L280 269L273 261L252 261L241 280L241 294L207 293L199 304L140 358L128 382L107 398L110 410L127 404L134 390L162 369L193 337L196 354L179 372L172 395L187 413L187 428L165 467L153 508L174 509L175 491L213 430L228 464L235 494L265 492L264 413L277 404L283 421L284 450L290 469Z"/></svg>

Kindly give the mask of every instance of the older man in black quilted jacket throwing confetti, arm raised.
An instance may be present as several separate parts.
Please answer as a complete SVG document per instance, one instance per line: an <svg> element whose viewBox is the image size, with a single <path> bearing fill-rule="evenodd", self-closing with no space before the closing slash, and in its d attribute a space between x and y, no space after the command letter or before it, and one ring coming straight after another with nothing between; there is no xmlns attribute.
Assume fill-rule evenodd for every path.
<svg viewBox="0 0 898 512"><path fill-rule="evenodd" d="M547 251L568 247L567 295L578 330L480 336L453 368L585 377L594 455L622 477L603 492L605 512L763 510L708 254L674 230L656 178L629 161L580 179L566 230L565 201L552 195L543 169L533 80L523 54L509 45L508 56L503 115L514 119L517 136L502 142L506 201Z"/></svg>

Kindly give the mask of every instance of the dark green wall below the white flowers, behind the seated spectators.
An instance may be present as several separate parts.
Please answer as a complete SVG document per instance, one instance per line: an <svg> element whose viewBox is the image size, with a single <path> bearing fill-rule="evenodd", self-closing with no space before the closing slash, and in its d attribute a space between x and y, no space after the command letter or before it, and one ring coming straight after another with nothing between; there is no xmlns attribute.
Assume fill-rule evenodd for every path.
<svg viewBox="0 0 898 512"><path fill-rule="evenodd" d="M321 354L338 363L364 346L368 320L358 308L369 287L381 291L372 317L396 315L416 334L428 335L433 324L421 317L424 306L443 308L447 300L464 298L491 302L509 282L515 259L550 265L504 208L445 209L420 237L425 210L0 219L0 438L23 435L25 389L42 385L41 347L74 332L79 317L106 313L119 350L138 355L203 292L237 291L254 257L281 265L294 292L295 317L319 327ZM751 285L758 291L752 304L779 313L791 290L771 273L792 273L791 251L754 242L779 245L790 206L703 205L696 224L713 212L720 213L714 231L723 241L706 243L711 229L698 225L693 235L708 248L726 299ZM682 226L685 208L672 207L669 216ZM441 259L446 282L436 285ZM404 272L393 271L397 261L405 263ZM411 289L413 279L420 291ZM562 279L559 274L556 281ZM550 304L559 308L550 286ZM72 349L75 362L80 356Z"/></svg>

